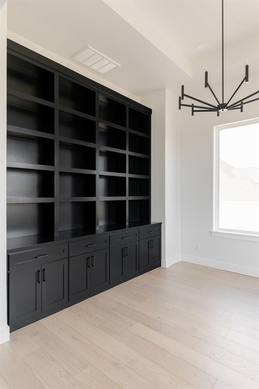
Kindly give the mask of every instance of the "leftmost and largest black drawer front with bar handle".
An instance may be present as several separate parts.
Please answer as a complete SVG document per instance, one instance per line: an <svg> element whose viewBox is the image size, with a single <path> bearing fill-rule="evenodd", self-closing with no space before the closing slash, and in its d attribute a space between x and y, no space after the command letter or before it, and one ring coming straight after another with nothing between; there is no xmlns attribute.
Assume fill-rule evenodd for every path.
<svg viewBox="0 0 259 389"><path fill-rule="evenodd" d="M68 257L68 244L42 247L9 254L9 271L56 261Z"/></svg>

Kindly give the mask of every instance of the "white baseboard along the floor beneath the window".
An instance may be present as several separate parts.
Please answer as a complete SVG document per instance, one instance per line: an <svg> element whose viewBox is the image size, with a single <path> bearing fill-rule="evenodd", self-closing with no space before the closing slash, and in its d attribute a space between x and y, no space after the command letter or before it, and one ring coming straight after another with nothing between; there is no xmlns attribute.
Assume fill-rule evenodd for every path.
<svg viewBox="0 0 259 389"><path fill-rule="evenodd" d="M259 278L259 266L256 267L248 267L238 265L236 263L227 263L222 261L215 261L214 259L207 259L202 257L196 257L194 255L182 254L181 260L183 262L191 262L197 265L203 265L208 267L214 267L219 270L227 270L232 271L232 273L243 274L244 276L251 276Z"/></svg>

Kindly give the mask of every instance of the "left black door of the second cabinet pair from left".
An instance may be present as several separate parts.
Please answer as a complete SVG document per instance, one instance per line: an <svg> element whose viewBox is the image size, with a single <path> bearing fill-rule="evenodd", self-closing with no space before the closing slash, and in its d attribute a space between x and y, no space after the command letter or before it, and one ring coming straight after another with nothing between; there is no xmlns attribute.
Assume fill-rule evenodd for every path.
<svg viewBox="0 0 259 389"><path fill-rule="evenodd" d="M90 296L91 257L89 254L69 258L69 301L77 302Z"/></svg>

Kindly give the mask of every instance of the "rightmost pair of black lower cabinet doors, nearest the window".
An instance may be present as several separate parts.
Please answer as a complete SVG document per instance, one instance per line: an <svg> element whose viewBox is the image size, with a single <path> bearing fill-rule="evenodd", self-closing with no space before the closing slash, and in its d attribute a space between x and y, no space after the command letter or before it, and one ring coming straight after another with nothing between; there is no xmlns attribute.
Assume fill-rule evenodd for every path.
<svg viewBox="0 0 259 389"><path fill-rule="evenodd" d="M161 265L161 236L143 239L139 243L139 271L149 271Z"/></svg>

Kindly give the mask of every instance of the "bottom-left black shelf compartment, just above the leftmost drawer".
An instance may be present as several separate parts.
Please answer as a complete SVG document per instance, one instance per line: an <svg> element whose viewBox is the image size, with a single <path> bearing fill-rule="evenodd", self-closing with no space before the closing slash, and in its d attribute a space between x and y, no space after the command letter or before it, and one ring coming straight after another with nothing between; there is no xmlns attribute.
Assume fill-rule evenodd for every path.
<svg viewBox="0 0 259 389"><path fill-rule="evenodd" d="M7 204L7 238L54 235L54 203Z"/></svg>

